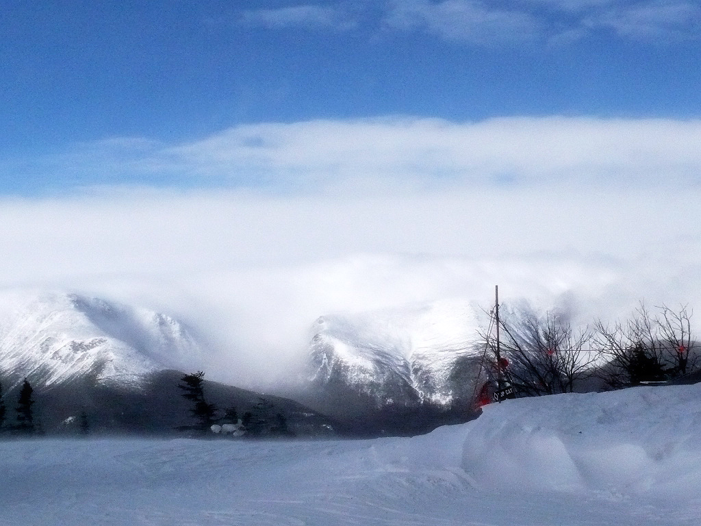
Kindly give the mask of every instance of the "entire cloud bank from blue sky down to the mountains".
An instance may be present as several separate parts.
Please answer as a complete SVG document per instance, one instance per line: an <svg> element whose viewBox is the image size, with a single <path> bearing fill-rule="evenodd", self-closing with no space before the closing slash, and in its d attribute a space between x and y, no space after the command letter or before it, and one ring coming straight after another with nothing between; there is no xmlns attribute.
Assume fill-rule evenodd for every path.
<svg viewBox="0 0 701 526"><path fill-rule="evenodd" d="M700 138L669 119L388 118L81 144L22 165L79 184L0 200L0 286L175 315L214 349L205 370L248 386L299 364L332 312L488 305L495 284L585 322L698 306Z"/></svg>

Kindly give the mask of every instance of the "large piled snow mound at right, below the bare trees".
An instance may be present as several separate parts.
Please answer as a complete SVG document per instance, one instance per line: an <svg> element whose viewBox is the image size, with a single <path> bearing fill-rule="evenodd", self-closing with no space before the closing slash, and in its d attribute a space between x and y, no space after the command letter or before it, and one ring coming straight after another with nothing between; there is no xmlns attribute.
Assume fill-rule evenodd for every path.
<svg viewBox="0 0 701 526"><path fill-rule="evenodd" d="M462 464L479 487L685 498L701 490L701 386L562 394L484 407Z"/></svg>

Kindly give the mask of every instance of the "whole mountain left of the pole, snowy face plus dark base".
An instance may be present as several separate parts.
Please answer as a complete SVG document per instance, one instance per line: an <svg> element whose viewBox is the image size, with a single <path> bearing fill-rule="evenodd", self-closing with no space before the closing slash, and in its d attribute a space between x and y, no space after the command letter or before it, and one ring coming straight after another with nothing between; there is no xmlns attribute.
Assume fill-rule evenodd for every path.
<svg viewBox="0 0 701 526"><path fill-rule="evenodd" d="M305 402L388 432L468 419L476 339L477 311L464 302L323 316L309 344Z"/></svg>

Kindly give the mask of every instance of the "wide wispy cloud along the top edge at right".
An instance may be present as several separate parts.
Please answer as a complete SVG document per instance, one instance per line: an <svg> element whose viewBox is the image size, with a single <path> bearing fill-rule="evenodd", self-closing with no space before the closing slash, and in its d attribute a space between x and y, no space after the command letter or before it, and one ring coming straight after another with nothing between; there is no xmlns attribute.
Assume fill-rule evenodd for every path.
<svg viewBox="0 0 701 526"><path fill-rule="evenodd" d="M501 45L571 43L613 29L626 39L697 39L701 8L688 0L389 0L386 24L450 41Z"/></svg>

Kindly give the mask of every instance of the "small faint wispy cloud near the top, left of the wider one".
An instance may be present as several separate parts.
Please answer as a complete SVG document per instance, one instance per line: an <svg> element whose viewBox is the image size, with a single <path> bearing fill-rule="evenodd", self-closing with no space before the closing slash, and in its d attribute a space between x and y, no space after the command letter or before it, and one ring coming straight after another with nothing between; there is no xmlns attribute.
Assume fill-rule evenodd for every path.
<svg viewBox="0 0 701 526"><path fill-rule="evenodd" d="M273 9L251 9L240 13L240 21L271 29L284 27L322 27L347 30L355 26L351 13L343 6L305 4Z"/></svg>

